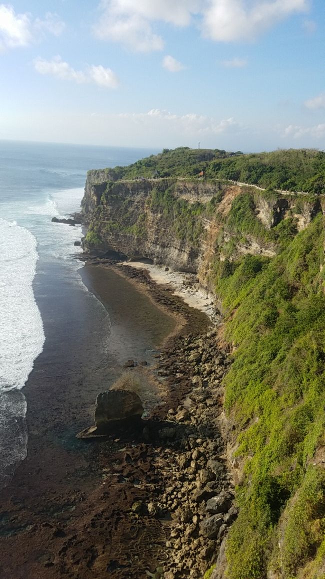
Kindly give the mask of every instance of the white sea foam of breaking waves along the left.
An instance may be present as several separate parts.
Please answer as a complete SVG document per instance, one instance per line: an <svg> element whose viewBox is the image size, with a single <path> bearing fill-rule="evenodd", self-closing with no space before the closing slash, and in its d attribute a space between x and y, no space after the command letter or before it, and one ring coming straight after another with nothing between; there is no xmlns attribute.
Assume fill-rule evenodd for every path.
<svg viewBox="0 0 325 579"><path fill-rule="evenodd" d="M81 226L51 222L52 217L79 211L82 196L81 188L44 190L34 202L9 200L0 206L5 217L0 218L0 488L27 455L27 408L21 389L45 339L32 288L38 258L39 272L57 263L59 276L88 292L78 272L81 262L74 259L82 251L73 245L83 236ZM107 351L109 316L94 295L89 299L103 308L107 325L103 351Z"/></svg>

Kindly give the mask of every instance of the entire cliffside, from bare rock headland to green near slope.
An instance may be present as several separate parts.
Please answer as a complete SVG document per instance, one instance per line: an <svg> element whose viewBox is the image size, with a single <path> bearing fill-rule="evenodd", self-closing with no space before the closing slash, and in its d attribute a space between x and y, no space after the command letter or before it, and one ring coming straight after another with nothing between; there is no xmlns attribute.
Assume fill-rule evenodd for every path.
<svg viewBox="0 0 325 579"><path fill-rule="evenodd" d="M229 534L223 527L220 552L225 522L212 515L220 525L211 576L324 577L324 196L214 179L110 177L88 172L85 250L195 274L222 312L207 347L212 339L230 351L229 371L214 384L216 355L213 379L196 376L206 380L200 386L212 414L223 404L215 413L239 515ZM200 360L204 339L201 349ZM195 483L196 473L187 474ZM183 538L178 531L174 550Z"/></svg>

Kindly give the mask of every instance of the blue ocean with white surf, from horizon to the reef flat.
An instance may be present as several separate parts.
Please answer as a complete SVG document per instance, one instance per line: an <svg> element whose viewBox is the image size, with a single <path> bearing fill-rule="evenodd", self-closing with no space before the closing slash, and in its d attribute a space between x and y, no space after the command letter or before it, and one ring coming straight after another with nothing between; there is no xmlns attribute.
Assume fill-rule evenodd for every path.
<svg viewBox="0 0 325 579"><path fill-rule="evenodd" d="M51 218L79 211L88 169L127 165L153 152L0 141L0 485L27 455L24 386L51 340L44 316L55 332L57 316L69 317L82 302L85 317L100 320L103 355L109 339L109 313L80 276L81 249L74 241L81 240L81 226ZM73 315L69 324L66 331L73 334Z"/></svg>

